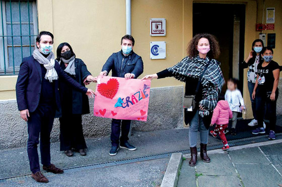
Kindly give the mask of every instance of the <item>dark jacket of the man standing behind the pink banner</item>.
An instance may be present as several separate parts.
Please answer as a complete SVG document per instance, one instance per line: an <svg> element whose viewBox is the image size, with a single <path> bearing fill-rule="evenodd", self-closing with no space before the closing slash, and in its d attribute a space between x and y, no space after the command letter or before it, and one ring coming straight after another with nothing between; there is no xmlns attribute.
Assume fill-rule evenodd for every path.
<svg viewBox="0 0 282 187"><path fill-rule="evenodd" d="M124 56L122 51L114 52L106 61L102 68L108 73L112 70L113 77L123 77L127 73L135 75L135 79L143 73L143 60L141 56L132 51L128 56Z"/></svg>

